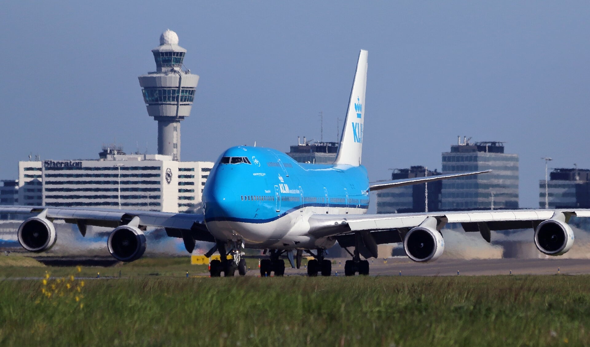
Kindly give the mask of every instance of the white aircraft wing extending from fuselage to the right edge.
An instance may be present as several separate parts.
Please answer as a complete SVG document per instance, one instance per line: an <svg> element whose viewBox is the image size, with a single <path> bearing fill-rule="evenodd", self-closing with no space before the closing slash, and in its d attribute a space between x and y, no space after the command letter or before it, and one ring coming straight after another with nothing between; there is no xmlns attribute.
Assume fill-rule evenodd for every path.
<svg viewBox="0 0 590 347"><path fill-rule="evenodd" d="M405 234L412 228L419 226L440 232L447 223L461 223L466 232L480 232L481 236L487 242L490 242L491 230L535 229L540 223L548 220L555 223L568 223L572 216L590 217L590 210L478 210L357 215L316 214L310 217L309 224L312 236L335 237L342 247L352 246L358 234L362 237L366 246L363 256L376 257L377 244L403 242ZM363 253L363 250L360 251Z"/></svg>

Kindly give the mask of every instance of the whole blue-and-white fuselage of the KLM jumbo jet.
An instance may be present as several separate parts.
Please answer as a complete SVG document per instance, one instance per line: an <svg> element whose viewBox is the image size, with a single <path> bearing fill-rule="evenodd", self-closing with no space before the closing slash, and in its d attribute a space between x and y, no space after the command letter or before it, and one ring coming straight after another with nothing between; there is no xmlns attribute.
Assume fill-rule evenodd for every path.
<svg viewBox="0 0 590 347"><path fill-rule="evenodd" d="M305 235L306 218L366 213L368 189L363 166L302 164L270 148L232 147L205 185L205 223L218 239L297 248L317 241Z"/></svg>

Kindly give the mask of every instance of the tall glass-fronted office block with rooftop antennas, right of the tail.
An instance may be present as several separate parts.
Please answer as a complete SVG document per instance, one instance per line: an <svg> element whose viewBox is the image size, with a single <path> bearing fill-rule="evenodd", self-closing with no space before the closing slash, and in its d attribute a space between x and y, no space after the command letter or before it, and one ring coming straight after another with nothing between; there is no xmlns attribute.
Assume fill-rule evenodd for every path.
<svg viewBox="0 0 590 347"><path fill-rule="evenodd" d="M442 181L442 210L518 209L519 157L501 142L459 143L442 153L442 174L493 170Z"/></svg>

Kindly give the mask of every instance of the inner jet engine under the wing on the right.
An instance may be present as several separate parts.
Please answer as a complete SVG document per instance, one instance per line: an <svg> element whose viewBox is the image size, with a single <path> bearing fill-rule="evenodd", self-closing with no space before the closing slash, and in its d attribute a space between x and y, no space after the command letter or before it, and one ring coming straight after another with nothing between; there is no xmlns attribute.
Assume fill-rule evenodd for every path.
<svg viewBox="0 0 590 347"><path fill-rule="evenodd" d="M406 234L404 250L414 262L437 260L444 252L444 240L437 230L418 226Z"/></svg>

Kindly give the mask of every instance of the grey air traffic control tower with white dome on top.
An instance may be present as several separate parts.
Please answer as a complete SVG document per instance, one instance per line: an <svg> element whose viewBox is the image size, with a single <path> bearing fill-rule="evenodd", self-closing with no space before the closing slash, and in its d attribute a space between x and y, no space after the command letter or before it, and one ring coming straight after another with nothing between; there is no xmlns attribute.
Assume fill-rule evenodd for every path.
<svg viewBox="0 0 590 347"><path fill-rule="evenodd" d="M152 49L157 71L139 76L148 114L158 121L158 154L181 160L181 120L191 113L199 76L182 70L186 49L176 32L166 30Z"/></svg>

